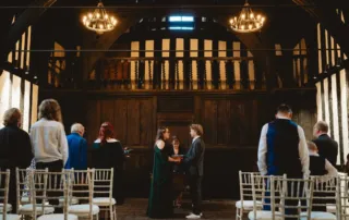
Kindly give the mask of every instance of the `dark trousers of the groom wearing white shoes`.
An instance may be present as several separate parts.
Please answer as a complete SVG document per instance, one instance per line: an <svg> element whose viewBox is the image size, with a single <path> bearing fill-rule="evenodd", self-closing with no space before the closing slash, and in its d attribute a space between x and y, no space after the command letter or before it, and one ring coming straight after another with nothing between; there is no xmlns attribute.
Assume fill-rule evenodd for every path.
<svg viewBox="0 0 349 220"><path fill-rule="evenodd" d="M203 176L190 175L190 195L193 203L193 213L200 215L202 212L202 181Z"/></svg>

